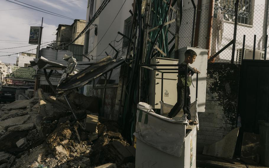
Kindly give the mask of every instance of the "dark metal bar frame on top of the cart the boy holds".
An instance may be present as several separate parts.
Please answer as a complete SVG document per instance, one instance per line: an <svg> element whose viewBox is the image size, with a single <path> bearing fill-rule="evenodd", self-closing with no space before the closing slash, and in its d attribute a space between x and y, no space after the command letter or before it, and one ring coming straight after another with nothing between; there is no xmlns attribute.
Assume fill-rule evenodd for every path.
<svg viewBox="0 0 269 168"><path fill-rule="evenodd" d="M185 72L185 85L184 85L184 104L187 104L187 77L188 77L188 66L182 64L140 64L141 67L160 72L162 74L161 82L161 101L163 101L163 74L164 73L177 73L179 77L179 72ZM178 68L156 68L156 67L178 67ZM194 72L196 73L196 72ZM195 99L197 99L198 94L198 73L196 73L196 93ZM187 106L185 106L184 111L186 112Z"/></svg>

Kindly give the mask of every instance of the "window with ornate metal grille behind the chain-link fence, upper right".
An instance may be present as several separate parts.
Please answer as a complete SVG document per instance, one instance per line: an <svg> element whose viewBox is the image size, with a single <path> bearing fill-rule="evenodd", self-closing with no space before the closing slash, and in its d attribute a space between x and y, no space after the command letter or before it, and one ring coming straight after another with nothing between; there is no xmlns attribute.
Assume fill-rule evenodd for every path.
<svg viewBox="0 0 269 168"><path fill-rule="evenodd" d="M251 0L239 0L238 23L252 25ZM220 10L219 10L220 9ZM218 12L223 13L223 19L234 22L235 1L234 0L215 0L214 18Z"/></svg>

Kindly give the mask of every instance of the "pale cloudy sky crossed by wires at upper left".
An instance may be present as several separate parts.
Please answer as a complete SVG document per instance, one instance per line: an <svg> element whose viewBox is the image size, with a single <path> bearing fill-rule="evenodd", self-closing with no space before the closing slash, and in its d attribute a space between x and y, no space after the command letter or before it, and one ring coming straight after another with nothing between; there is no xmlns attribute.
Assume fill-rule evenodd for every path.
<svg viewBox="0 0 269 168"><path fill-rule="evenodd" d="M28 6L26 4L29 4L72 19L86 20L87 0L0 0L0 60L4 63L15 64L17 54L14 53L35 49L37 47L37 45L29 46L31 44L28 44L30 26L41 26L42 17L43 33L41 43L45 43L44 45L47 44L46 42L56 40L55 34L59 24L71 25L74 21L43 13L47 11L39 12L18 4L24 6ZM12 47L20 48L6 49ZM36 50L27 52L35 54ZM11 55L3 56L8 54Z"/></svg>

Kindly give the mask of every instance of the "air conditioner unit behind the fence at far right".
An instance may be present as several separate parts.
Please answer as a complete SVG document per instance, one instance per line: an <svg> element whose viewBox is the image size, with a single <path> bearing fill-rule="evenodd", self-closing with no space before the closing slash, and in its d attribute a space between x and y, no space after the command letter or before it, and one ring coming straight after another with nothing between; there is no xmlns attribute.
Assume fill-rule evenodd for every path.
<svg viewBox="0 0 269 168"><path fill-rule="evenodd" d="M242 56L243 49L237 49L236 53L236 63L241 64L242 59L253 59L253 50L245 49L244 56ZM254 59L263 60L264 59L264 51L255 50Z"/></svg>

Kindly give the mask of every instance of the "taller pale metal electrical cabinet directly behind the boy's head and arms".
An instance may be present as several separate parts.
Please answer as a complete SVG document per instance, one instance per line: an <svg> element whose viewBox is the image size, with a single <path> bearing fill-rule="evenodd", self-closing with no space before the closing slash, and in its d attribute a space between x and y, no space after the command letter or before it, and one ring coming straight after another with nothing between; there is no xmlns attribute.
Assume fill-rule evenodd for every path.
<svg viewBox="0 0 269 168"><path fill-rule="evenodd" d="M206 93L206 74L207 74L207 62L208 62L208 50L206 49L198 49L193 47L184 47L179 49L179 63L184 62L185 56L184 53L186 50L192 49L196 52L197 57L195 62L189 64L190 67L197 68L201 73L198 76L198 109L197 112L205 112L205 93ZM191 103L195 101L195 93L196 93L196 74L192 76L192 81L194 87L191 85L190 92L191 92ZM173 104L174 105L174 104Z"/></svg>

